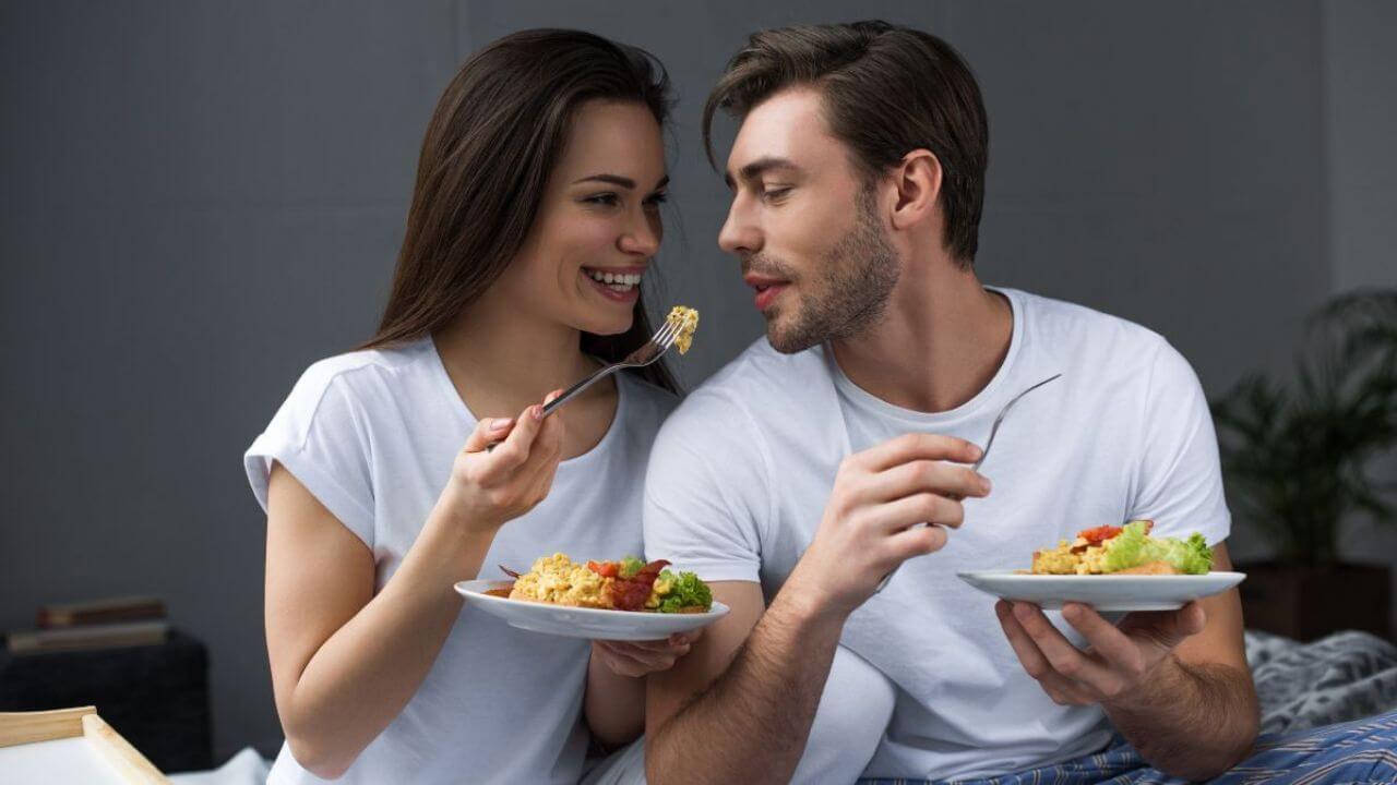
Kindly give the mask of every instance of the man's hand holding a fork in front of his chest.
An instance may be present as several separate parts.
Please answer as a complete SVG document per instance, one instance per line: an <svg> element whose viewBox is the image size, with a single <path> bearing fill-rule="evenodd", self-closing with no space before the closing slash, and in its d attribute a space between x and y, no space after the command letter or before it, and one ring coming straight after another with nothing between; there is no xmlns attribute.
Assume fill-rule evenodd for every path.
<svg viewBox="0 0 1397 785"><path fill-rule="evenodd" d="M883 575L914 556L940 550L946 529L965 518L960 499L989 494L968 467L979 447L950 436L900 436L844 460L814 541L787 587L821 610L848 615ZM928 527L911 528L926 522Z"/></svg>

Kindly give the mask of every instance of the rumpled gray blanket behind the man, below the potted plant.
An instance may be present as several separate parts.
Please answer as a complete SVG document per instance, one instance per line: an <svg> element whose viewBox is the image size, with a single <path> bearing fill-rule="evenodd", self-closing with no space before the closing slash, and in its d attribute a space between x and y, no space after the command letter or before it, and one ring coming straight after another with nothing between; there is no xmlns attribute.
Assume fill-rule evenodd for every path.
<svg viewBox="0 0 1397 785"><path fill-rule="evenodd" d="M1289 733L1397 710L1397 645L1358 631L1302 644L1248 630L1261 733Z"/></svg>

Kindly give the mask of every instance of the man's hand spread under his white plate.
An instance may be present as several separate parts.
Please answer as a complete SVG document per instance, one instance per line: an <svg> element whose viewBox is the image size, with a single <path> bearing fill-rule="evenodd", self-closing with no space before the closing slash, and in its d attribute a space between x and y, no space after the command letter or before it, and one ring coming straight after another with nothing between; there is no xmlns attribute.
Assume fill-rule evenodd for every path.
<svg viewBox="0 0 1397 785"><path fill-rule="evenodd" d="M1179 610L1130 613L1119 627L1069 602L1062 617L1087 638L1090 648L1083 651L1037 605L999 601L995 613L1024 670L1060 705L1129 703L1173 650L1207 623L1197 602Z"/></svg>

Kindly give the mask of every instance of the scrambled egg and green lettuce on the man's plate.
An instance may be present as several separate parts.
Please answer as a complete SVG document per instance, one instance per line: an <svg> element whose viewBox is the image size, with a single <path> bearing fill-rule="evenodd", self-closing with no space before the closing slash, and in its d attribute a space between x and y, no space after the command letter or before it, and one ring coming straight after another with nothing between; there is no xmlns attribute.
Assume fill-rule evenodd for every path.
<svg viewBox="0 0 1397 785"><path fill-rule="evenodd" d="M1187 539L1150 536L1154 521L1097 527L1077 532L1058 548L1034 553L1035 575L1203 575L1213 568L1213 549L1199 532Z"/></svg>

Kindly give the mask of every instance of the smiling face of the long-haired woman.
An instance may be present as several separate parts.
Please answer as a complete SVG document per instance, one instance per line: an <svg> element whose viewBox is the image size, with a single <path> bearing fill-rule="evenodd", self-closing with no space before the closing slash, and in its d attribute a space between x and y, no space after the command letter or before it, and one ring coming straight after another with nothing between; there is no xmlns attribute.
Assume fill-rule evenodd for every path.
<svg viewBox="0 0 1397 785"><path fill-rule="evenodd" d="M664 233L665 151L641 103L577 109L538 217L500 278L514 306L598 335L630 328L640 281Z"/></svg>

